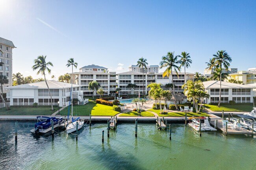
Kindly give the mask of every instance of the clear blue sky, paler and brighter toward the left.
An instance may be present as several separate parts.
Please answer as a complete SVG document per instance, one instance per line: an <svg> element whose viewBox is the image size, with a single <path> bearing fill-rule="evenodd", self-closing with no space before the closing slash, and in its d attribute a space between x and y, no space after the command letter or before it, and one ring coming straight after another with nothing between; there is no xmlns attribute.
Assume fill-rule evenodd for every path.
<svg viewBox="0 0 256 170"><path fill-rule="evenodd" d="M121 73L141 57L159 65L169 51L189 53L191 73L203 73L218 50L230 55L230 68L256 67L254 0L0 0L0 6L0 37L17 47L13 73L24 76L43 77L32 70L39 55L52 62L55 77L71 72L69 58L78 62L74 71L95 64Z"/></svg>

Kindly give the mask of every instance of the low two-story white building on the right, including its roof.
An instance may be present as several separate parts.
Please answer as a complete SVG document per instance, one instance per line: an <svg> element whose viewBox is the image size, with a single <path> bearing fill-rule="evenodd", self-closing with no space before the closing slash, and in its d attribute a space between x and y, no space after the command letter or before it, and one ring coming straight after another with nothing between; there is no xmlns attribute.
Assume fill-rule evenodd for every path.
<svg viewBox="0 0 256 170"><path fill-rule="evenodd" d="M210 98L206 99L206 103L219 102L220 81L203 82L205 91L210 94ZM253 91L251 86L243 84L235 84L230 82L221 82L221 102L228 103L235 101L236 103L252 103Z"/></svg>

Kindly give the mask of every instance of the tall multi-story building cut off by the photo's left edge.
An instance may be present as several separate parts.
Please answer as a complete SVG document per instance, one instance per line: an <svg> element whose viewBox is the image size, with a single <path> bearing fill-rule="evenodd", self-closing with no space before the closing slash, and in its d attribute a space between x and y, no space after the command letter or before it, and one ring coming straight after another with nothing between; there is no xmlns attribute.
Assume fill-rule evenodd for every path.
<svg viewBox="0 0 256 170"><path fill-rule="evenodd" d="M9 83L4 84L3 87L13 84L13 48L16 47L12 41L0 37L0 62L4 63L3 66L0 66L0 75L5 75L9 79Z"/></svg>

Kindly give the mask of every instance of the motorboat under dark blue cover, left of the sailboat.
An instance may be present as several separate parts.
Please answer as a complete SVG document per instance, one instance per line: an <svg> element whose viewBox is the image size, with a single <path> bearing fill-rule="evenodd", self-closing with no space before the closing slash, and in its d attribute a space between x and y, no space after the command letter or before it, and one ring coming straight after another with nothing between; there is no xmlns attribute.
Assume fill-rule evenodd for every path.
<svg viewBox="0 0 256 170"><path fill-rule="evenodd" d="M52 124L53 121L53 124ZM37 116L37 123L35 128L30 130L31 133L47 133L54 128L59 127L63 123L62 117L46 117L46 116Z"/></svg>

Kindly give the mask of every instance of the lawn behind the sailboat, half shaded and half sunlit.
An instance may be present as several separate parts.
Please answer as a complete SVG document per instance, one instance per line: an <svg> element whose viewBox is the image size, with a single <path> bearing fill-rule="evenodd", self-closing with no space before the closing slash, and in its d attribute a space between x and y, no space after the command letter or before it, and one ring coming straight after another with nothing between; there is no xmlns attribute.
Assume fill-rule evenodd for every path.
<svg viewBox="0 0 256 170"><path fill-rule="evenodd" d="M67 106L61 110L61 115L68 115L71 106ZM89 102L85 105L73 105L73 116L89 116L91 113L92 116L114 116L119 112L114 111L112 106L106 106L103 104L96 104L96 102Z"/></svg>

